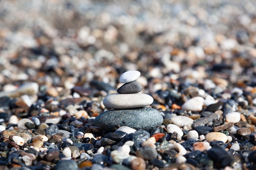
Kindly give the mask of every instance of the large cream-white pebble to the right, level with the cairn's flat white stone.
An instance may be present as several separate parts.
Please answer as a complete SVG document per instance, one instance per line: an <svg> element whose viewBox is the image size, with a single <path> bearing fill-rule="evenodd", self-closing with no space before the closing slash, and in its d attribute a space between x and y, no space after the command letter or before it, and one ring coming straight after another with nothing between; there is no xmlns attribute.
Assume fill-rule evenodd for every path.
<svg viewBox="0 0 256 170"><path fill-rule="evenodd" d="M201 111L204 104L204 98L202 97L193 97L186 101L182 105L182 110L191 110L191 111Z"/></svg>

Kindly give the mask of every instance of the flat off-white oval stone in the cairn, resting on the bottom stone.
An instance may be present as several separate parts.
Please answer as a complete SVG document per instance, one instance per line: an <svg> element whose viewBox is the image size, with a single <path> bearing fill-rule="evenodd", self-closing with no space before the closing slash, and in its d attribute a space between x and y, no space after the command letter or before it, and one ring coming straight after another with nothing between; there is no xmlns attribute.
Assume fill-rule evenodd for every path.
<svg viewBox="0 0 256 170"><path fill-rule="evenodd" d="M153 97L144 93L113 94L103 99L103 104L106 108L114 109L139 108L148 106L153 102Z"/></svg>

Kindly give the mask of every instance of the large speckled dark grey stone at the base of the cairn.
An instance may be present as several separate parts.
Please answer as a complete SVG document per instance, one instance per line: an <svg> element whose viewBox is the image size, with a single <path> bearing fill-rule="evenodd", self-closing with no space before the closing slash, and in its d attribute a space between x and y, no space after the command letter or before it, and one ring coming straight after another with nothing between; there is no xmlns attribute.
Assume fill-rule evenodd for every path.
<svg viewBox="0 0 256 170"><path fill-rule="evenodd" d="M107 131L115 131L120 126L150 130L163 122L162 115L153 108L109 110L94 119L94 125Z"/></svg>

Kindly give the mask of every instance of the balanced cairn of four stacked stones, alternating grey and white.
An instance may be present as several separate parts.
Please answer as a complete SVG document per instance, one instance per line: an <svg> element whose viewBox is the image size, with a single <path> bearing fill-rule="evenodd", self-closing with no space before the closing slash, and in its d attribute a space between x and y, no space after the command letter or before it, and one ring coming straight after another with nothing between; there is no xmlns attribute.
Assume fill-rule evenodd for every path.
<svg viewBox="0 0 256 170"><path fill-rule="evenodd" d="M139 71L127 71L119 79L124 83L117 89L118 94L108 95L103 99L106 108L111 108L101 113L94 119L94 125L106 131L115 131L121 126L128 126L136 130L150 130L163 122L162 115L148 106L154 99L150 95L139 93L141 84L135 80L140 76Z"/></svg>

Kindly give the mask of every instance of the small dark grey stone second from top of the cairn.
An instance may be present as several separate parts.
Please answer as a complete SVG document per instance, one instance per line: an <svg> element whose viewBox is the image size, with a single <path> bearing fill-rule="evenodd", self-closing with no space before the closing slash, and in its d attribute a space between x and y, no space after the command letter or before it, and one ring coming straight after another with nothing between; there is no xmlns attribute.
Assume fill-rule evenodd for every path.
<svg viewBox="0 0 256 170"><path fill-rule="evenodd" d="M118 93L139 93L142 91L142 86L136 81L125 83L117 89Z"/></svg>

